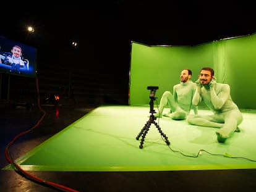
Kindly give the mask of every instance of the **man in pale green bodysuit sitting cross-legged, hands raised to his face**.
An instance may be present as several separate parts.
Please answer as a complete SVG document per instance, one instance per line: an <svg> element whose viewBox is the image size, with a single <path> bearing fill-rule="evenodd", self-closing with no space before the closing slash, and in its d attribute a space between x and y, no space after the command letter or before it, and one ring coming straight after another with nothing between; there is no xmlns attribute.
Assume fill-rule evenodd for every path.
<svg viewBox="0 0 256 192"><path fill-rule="evenodd" d="M192 125L216 127L217 140L224 143L234 131L240 131L237 125L242 123L243 117L230 95L228 84L216 83L214 70L210 67L201 69L197 89L192 104L197 105L201 100L213 112L213 115L188 115L187 122Z"/></svg>

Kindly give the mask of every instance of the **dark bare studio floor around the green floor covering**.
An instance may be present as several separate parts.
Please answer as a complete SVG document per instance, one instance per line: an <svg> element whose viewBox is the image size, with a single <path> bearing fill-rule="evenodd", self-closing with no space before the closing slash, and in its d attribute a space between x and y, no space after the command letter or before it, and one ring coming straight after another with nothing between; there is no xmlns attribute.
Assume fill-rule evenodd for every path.
<svg viewBox="0 0 256 192"><path fill-rule="evenodd" d="M55 135L96 105L69 104L42 106L46 115L38 127L20 136L9 153L15 160ZM0 109L1 169L9 165L4 151L15 136L30 130L43 113L23 106ZM254 147L254 146L252 146ZM104 159L103 159L104 161ZM12 170L0 170L0 191L65 191L56 190L22 177ZM66 191L255 191L256 170L198 170L166 172L28 172L46 182L66 186ZM62 187L63 188L63 187Z"/></svg>

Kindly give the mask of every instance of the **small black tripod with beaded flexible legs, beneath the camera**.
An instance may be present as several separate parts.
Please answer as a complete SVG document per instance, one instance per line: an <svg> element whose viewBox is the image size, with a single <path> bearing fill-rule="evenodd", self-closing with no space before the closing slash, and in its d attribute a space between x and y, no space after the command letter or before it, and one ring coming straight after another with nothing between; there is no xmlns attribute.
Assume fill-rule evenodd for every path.
<svg viewBox="0 0 256 192"><path fill-rule="evenodd" d="M152 93L152 90L151 90L151 93ZM152 94L150 94L150 95L152 95ZM161 134L161 136L164 137L165 143L167 145L170 144L170 142L168 140L168 137L163 133L163 131L161 130L160 126L155 122L156 117L154 116L154 114L156 112L154 110L154 100L155 100L155 97L154 96L150 96L150 113L151 113L150 119L147 121L147 123L144 125L142 130L140 130L139 135L136 137L136 140L139 140L140 136L142 136L142 140L140 141L140 146L139 146L140 149L143 148L143 143L144 143L145 137L146 137L146 135L147 135L147 133L149 131L149 128L150 128L152 123L155 125L156 128L158 128L158 132Z"/></svg>

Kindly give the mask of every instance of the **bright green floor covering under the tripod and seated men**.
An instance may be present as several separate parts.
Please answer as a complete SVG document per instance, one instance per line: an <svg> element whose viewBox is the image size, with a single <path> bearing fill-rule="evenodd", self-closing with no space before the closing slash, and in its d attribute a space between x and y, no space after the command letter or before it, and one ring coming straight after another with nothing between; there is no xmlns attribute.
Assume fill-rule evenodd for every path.
<svg viewBox="0 0 256 192"><path fill-rule="evenodd" d="M149 111L149 106L98 107L15 162L23 170L67 172L256 169L255 113L243 112L241 132L224 144L217 142L215 128L156 119L171 144L151 124L140 149L135 138L149 120Z"/></svg>

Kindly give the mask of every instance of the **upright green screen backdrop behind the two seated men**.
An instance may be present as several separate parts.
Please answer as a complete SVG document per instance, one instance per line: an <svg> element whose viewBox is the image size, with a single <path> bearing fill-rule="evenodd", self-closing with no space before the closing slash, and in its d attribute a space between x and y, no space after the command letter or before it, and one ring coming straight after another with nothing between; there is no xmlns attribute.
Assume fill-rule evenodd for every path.
<svg viewBox="0 0 256 192"><path fill-rule="evenodd" d="M197 80L202 67L213 67L218 83L231 86L231 96L241 109L256 109L253 88L256 70L256 34L197 46L147 46L132 42L130 105L148 104L147 86L158 86L156 97L173 91L182 69L192 70Z"/></svg>

